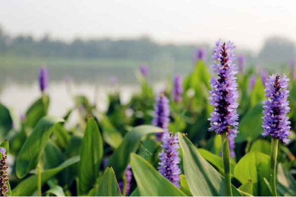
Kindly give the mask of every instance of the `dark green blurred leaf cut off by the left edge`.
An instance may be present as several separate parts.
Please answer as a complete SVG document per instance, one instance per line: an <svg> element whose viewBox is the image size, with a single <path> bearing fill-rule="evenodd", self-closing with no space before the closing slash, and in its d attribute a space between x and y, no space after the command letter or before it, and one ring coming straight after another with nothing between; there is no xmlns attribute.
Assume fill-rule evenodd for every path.
<svg viewBox="0 0 296 197"><path fill-rule="evenodd" d="M9 110L0 103L0 135L4 136L12 129L12 118Z"/></svg>

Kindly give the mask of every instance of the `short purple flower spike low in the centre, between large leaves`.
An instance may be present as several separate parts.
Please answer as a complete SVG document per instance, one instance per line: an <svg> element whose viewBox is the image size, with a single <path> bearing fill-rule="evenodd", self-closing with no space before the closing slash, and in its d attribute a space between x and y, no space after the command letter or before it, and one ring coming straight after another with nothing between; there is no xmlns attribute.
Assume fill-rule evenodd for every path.
<svg viewBox="0 0 296 197"><path fill-rule="evenodd" d="M180 188L181 169L178 165L180 163L178 136L177 134L173 136L173 133L165 132L162 141L158 171L176 187Z"/></svg>

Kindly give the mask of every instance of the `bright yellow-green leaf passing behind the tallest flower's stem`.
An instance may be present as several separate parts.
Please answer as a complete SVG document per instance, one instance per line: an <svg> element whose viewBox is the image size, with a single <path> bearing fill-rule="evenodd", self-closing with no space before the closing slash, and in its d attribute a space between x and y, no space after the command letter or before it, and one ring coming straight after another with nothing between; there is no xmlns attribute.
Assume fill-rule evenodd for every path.
<svg viewBox="0 0 296 197"><path fill-rule="evenodd" d="M207 160L210 164L214 165L222 173L224 173L224 164L221 157L219 157L218 155L214 155L213 153L211 153L206 149L198 148L197 150L205 160ZM235 166L235 163L232 160L230 160L231 174L233 174L234 166Z"/></svg>

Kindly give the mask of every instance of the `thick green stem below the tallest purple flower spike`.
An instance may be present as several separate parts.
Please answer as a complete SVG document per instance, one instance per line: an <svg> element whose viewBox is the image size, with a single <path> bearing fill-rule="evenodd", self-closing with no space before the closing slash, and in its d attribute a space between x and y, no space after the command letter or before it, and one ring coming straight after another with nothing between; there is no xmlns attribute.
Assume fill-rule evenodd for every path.
<svg viewBox="0 0 296 197"><path fill-rule="evenodd" d="M222 139L222 158L224 163L224 178L227 195L232 197L231 190L231 177L230 177L230 151L229 151L229 142L226 132L221 134Z"/></svg>

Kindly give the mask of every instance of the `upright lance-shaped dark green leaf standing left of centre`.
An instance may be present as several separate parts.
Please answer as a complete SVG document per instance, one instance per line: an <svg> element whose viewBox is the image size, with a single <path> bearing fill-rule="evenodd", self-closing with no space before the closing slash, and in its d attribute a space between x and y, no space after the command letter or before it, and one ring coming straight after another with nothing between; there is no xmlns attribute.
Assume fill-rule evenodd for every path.
<svg viewBox="0 0 296 197"><path fill-rule="evenodd" d="M103 158L103 140L98 125L88 118L82 139L79 162L79 190L82 194L93 187Z"/></svg>

